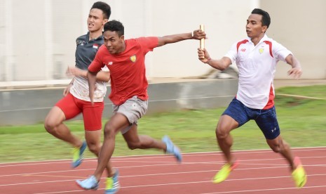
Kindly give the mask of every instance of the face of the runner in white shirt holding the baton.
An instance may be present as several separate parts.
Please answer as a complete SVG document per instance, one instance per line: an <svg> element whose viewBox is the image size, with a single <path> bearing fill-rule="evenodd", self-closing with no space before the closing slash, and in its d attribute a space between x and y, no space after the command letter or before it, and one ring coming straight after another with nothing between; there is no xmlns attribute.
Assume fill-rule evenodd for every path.
<svg viewBox="0 0 326 194"><path fill-rule="evenodd" d="M251 14L247 19L247 25L245 25L245 30L247 36L252 38L260 37L260 35L267 30L266 25L262 25L262 15Z"/></svg>

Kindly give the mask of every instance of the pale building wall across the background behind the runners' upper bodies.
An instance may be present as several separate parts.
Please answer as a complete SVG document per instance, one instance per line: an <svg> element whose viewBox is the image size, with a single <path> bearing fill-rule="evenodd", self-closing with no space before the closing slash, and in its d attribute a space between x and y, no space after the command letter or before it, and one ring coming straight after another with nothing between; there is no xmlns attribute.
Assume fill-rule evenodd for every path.
<svg viewBox="0 0 326 194"><path fill-rule="evenodd" d="M104 0L105 1L105 0ZM64 84L74 65L76 37L86 34L93 0L0 0L0 86ZM163 36L205 25L206 48L220 58L246 37L253 8L271 15L269 37L301 61L304 79L326 79L326 1L324 0L110 0L110 20L125 25L125 37ZM294 6L295 5L295 6ZM200 77L212 70L197 58L199 41L156 48L147 56L147 76ZM278 63L276 78L289 66Z"/></svg>

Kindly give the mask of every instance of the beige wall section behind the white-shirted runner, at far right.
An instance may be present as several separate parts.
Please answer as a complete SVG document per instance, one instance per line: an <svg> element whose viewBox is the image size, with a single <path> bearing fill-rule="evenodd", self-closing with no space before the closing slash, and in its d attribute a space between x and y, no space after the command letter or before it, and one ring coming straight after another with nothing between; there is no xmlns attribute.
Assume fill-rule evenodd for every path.
<svg viewBox="0 0 326 194"><path fill-rule="evenodd" d="M269 11L267 34L289 48L301 62L304 79L326 79L326 1L261 1ZM286 79L289 65L278 63L276 77Z"/></svg>

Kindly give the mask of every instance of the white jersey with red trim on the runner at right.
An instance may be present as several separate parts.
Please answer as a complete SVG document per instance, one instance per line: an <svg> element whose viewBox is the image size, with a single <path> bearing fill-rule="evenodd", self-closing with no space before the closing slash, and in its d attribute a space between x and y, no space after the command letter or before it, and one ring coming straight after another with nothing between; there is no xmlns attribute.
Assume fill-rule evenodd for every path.
<svg viewBox="0 0 326 194"><path fill-rule="evenodd" d="M249 37L233 44L226 57L238 66L238 101L249 108L272 108L276 63L279 60L285 61L290 54L292 53L287 48L266 34L256 46Z"/></svg>

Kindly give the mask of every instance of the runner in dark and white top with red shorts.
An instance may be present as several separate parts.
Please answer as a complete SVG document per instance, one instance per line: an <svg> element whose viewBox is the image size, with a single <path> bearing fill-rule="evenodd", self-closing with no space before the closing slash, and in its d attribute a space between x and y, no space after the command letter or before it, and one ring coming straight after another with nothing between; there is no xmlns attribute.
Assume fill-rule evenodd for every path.
<svg viewBox="0 0 326 194"><path fill-rule="evenodd" d="M48 112L44 124L48 133L74 146L73 168L81 164L87 146L97 157L102 148L102 112L104 96L107 92L106 82L110 80L110 73L107 69L97 75L95 98L92 104L88 94L87 70L94 60L98 48L104 44L103 27L110 15L111 8L104 2L95 2L90 8L87 20L88 33L76 39L76 65L68 67L67 70L67 73L73 75L74 78L64 89L64 97ZM81 113L83 114L86 141L81 141L78 136L73 135L64 124L65 120L72 119ZM110 163L106 168L108 174L106 188L114 193L119 186L116 179L114 179L114 183L111 181L112 177L116 175L116 170L111 168Z"/></svg>

